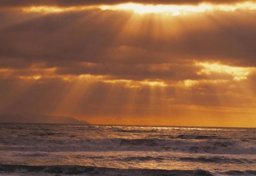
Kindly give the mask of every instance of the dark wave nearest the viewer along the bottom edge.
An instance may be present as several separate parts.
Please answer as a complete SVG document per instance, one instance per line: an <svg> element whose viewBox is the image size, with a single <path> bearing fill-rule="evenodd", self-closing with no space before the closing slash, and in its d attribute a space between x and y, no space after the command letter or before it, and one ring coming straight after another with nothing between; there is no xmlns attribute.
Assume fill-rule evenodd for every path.
<svg viewBox="0 0 256 176"><path fill-rule="evenodd" d="M55 165L55 166L31 166L31 165L6 165L0 164L0 171L6 173L48 173L48 174L89 174L89 175L204 175L212 176L206 170L162 170L162 169L116 169L101 168L96 166Z"/></svg>

